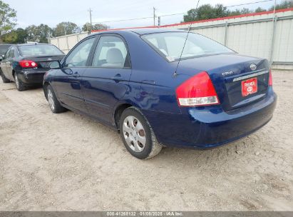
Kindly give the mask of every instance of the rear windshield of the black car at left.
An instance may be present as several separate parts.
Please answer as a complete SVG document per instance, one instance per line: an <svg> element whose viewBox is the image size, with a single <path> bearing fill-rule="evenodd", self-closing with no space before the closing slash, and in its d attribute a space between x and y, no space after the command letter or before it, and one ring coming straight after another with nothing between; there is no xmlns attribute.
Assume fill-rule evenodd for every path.
<svg viewBox="0 0 293 217"><path fill-rule="evenodd" d="M19 46L21 56L54 56L63 55L56 46L47 44L25 45Z"/></svg>

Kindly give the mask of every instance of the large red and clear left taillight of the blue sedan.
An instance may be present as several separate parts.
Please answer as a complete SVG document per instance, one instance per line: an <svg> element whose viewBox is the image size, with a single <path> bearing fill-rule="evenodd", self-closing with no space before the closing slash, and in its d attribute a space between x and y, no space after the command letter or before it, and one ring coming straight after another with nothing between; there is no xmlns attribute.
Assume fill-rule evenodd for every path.
<svg viewBox="0 0 293 217"><path fill-rule="evenodd" d="M176 89L179 106L208 106L220 104L215 87L206 71L193 76Z"/></svg>

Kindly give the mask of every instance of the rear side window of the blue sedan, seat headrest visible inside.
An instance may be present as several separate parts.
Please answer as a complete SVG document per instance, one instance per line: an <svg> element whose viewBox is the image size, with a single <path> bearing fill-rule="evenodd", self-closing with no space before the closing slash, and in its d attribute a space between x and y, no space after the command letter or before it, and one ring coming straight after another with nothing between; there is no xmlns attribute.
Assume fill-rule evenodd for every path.
<svg viewBox="0 0 293 217"><path fill-rule="evenodd" d="M122 39L117 36L101 36L93 56L94 67L124 68L128 51Z"/></svg>

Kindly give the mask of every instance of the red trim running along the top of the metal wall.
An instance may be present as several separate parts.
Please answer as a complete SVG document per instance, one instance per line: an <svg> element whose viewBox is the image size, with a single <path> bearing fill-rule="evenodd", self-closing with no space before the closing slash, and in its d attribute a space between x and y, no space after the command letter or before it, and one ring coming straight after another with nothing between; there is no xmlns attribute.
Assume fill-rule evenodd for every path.
<svg viewBox="0 0 293 217"><path fill-rule="evenodd" d="M276 10L275 12L276 13L282 13L282 12L286 12L286 11L293 11L293 8L279 9L279 10ZM241 15L236 15L236 16L225 16L225 17L219 17L219 18L215 18L215 19L204 19L204 20L200 20L200 21L191 21L191 22L180 23L180 24L169 24L169 25L164 25L164 26L128 27L128 28L121 28L121 29L93 30L92 32L113 31L113 30L123 30L123 29L163 28L163 27L181 26L181 25L188 25L188 24L199 24L199 23L205 23L205 22L210 22L210 21L220 21L220 20L225 20L225 19L236 19L236 18L247 17L247 16L258 16L258 15L273 14L273 13L274 13L274 11L263 11L263 12L252 13L252 14L241 14Z"/></svg>

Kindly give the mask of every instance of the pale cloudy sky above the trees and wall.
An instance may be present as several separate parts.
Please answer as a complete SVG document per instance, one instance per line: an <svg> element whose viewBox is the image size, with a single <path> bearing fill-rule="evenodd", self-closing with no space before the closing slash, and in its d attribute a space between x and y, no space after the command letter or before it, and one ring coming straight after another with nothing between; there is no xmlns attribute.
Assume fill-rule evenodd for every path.
<svg viewBox="0 0 293 217"><path fill-rule="evenodd" d="M255 1L262 0L200 0L199 6L202 4L232 6ZM279 1L281 0L277 0L277 2ZM4 2L17 11L18 25L16 27L26 28L26 26L33 24L48 24L48 26L55 27L56 24L62 21L71 21L78 26L83 26L83 24L90 21L89 9L91 8L93 23L103 23L110 26L111 29L153 26L153 19L151 18L115 22L121 19L151 17L153 16L153 7L156 9L155 13L158 16L162 16L165 14L185 13L189 9L195 8L197 4L197 0L4 0ZM250 4L245 7L256 9L258 6L262 6L262 8L268 9L272 4L274 4L274 1ZM242 7L230 7L229 9L241 9ZM161 25L180 23L180 21L183 21L183 14L163 16Z"/></svg>

